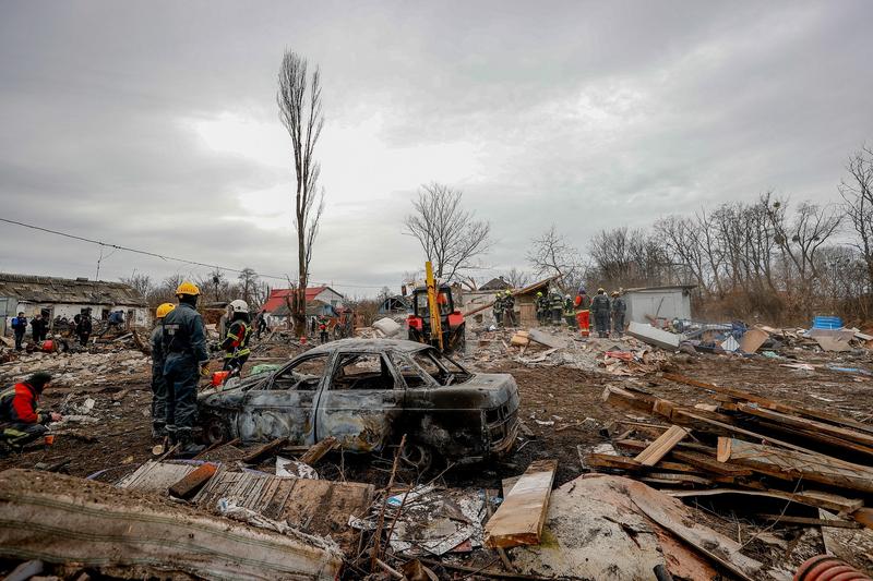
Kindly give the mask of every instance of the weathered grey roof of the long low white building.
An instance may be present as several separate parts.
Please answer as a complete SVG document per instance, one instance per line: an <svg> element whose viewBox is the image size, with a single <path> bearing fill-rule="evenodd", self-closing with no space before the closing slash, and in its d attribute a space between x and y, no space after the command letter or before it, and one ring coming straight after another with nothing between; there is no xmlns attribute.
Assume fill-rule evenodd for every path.
<svg viewBox="0 0 873 581"><path fill-rule="evenodd" d="M26 303L113 304L146 306L143 296L122 282L0 273L0 296Z"/></svg>

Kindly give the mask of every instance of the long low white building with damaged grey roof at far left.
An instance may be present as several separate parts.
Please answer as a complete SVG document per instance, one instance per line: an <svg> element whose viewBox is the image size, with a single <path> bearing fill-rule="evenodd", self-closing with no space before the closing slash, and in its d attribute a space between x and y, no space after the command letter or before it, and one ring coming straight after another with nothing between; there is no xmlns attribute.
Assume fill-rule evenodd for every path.
<svg viewBox="0 0 873 581"><path fill-rule="evenodd" d="M96 320L122 311L130 325L151 323L145 299L123 282L0 273L0 315L3 315L0 331L5 332L19 312L24 312L28 318L48 312L50 320L58 317L71 320L83 308L91 308Z"/></svg>

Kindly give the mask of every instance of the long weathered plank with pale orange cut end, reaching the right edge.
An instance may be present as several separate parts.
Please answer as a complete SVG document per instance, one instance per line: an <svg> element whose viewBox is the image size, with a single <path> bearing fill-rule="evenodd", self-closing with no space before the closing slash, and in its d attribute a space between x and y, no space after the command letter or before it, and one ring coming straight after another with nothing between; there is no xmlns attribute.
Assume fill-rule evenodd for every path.
<svg viewBox="0 0 873 581"><path fill-rule="evenodd" d="M719 437L718 461L745 465L763 474L788 474L794 479L873 493L873 469L821 453L804 453Z"/></svg>

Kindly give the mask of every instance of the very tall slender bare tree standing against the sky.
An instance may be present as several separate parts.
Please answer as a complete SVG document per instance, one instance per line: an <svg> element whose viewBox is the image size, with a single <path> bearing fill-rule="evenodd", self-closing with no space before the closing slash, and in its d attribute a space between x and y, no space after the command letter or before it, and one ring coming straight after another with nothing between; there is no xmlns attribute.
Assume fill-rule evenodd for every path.
<svg viewBox="0 0 873 581"><path fill-rule="evenodd" d="M319 191L321 168L313 155L315 144L324 126L321 102L321 73L307 72L307 60L294 51L286 50L278 75L276 102L279 119L291 137L294 169L297 178L295 193L294 226L297 231L297 298L292 315L297 332L306 332L306 292L309 285L309 265L312 246L319 231L319 221L324 210L324 190Z"/></svg>

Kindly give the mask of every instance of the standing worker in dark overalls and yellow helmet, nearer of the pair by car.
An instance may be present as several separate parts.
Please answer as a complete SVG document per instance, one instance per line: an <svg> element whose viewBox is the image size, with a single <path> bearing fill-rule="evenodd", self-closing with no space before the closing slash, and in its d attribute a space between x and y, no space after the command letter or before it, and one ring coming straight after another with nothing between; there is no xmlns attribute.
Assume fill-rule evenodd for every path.
<svg viewBox="0 0 873 581"><path fill-rule="evenodd" d="M198 380L210 374L206 331L196 304L200 289L183 281L176 289L179 306L164 316L160 344L164 352L164 378L167 382L166 429L171 446L180 456L196 456L203 446L194 444L198 417Z"/></svg>

